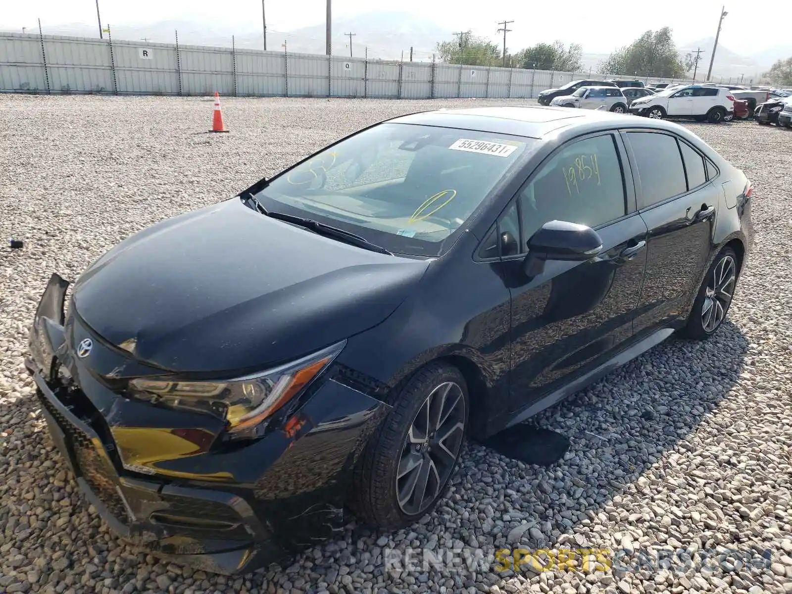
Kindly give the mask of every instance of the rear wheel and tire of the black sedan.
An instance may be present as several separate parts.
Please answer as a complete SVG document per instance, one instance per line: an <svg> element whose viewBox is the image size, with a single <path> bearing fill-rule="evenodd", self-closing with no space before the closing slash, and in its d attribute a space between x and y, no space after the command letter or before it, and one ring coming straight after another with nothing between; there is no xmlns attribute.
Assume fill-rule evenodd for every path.
<svg viewBox="0 0 792 594"><path fill-rule="evenodd" d="M681 330L684 336L703 341L718 331L729 312L739 272L737 254L731 248L722 249L699 287L687 325Z"/></svg>

